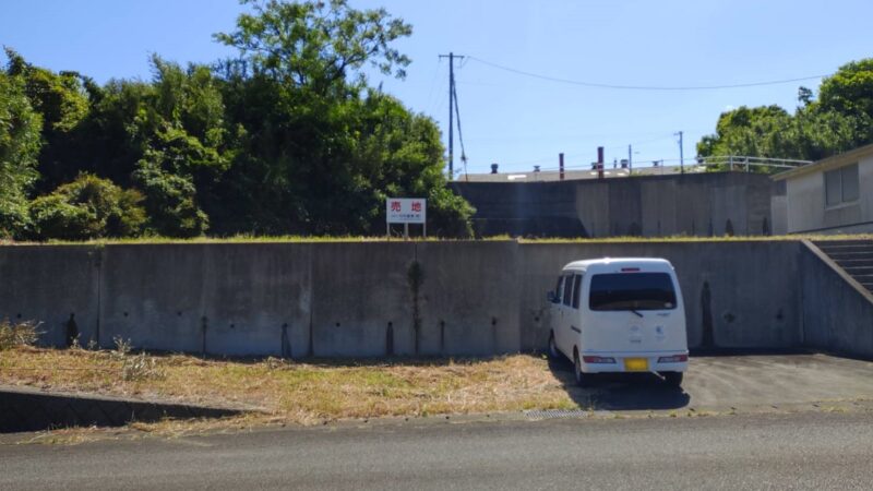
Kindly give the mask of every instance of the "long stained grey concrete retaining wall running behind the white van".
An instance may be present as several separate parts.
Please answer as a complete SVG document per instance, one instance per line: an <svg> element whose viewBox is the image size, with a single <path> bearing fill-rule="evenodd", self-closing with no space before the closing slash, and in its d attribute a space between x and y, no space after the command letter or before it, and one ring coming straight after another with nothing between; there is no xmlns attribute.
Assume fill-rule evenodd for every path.
<svg viewBox="0 0 873 491"><path fill-rule="evenodd" d="M801 301L838 279L816 273L804 248L796 241L3 247L0 316L43 321L46 342L56 346L64 345L74 314L82 343L99 339L104 347L119 336L141 348L230 356L515 352L546 346L546 292L564 264L658 256L679 274L693 348L870 346L873 314L840 307L853 304L850 297L817 308ZM846 321L828 315L844 310L856 319L856 334L844 339L811 327L810 319L832 319L830 327L817 328L837 330Z"/></svg>

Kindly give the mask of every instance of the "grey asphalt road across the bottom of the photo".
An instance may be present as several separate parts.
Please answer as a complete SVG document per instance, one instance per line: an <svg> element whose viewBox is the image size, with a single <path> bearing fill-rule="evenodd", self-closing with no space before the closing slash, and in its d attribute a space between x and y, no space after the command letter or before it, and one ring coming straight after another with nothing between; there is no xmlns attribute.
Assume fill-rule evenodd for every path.
<svg viewBox="0 0 873 491"><path fill-rule="evenodd" d="M870 411L410 422L0 445L0 489L870 489L871 463Z"/></svg>

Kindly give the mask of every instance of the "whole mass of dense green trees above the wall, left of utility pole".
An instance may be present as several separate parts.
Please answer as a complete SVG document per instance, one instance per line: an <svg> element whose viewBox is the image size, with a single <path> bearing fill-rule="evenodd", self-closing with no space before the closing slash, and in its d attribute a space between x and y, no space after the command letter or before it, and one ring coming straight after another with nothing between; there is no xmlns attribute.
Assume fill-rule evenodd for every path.
<svg viewBox="0 0 873 491"><path fill-rule="evenodd" d="M368 85L405 75L411 27L344 0L249 2L215 39L234 59L104 85L7 49L0 238L379 235L384 200L428 197L429 230L470 233L434 121Z"/></svg>

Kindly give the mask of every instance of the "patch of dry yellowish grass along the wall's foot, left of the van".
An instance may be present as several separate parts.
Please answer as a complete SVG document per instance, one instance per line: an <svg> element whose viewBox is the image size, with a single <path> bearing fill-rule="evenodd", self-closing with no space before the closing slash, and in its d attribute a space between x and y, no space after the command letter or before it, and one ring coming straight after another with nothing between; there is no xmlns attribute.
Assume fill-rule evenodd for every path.
<svg viewBox="0 0 873 491"><path fill-rule="evenodd" d="M125 376L134 357L158 375ZM16 347L0 357L0 384L246 408L270 421L303 424L578 407L548 361L526 355L348 363Z"/></svg>

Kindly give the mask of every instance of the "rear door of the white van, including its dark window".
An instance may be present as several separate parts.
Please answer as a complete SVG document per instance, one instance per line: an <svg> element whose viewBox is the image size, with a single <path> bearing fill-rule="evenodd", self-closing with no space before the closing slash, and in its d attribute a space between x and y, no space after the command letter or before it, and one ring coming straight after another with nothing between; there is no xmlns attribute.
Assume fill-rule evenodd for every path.
<svg viewBox="0 0 873 491"><path fill-rule="evenodd" d="M683 351L685 315L674 276L623 268L590 276L584 349Z"/></svg>

